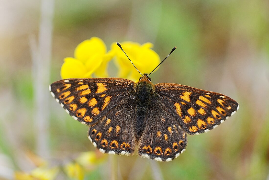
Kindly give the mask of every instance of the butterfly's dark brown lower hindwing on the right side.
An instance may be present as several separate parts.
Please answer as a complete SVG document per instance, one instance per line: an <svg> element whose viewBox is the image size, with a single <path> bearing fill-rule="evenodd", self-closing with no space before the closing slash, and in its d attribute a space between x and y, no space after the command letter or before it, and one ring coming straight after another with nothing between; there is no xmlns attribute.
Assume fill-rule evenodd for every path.
<svg viewBox="0 0 269 180"><path fill-rule="evenodd" d="M156 161L172 161L185 151L186 133L160 101L148 109L146 126L139 141L139 155Z"/></svg>

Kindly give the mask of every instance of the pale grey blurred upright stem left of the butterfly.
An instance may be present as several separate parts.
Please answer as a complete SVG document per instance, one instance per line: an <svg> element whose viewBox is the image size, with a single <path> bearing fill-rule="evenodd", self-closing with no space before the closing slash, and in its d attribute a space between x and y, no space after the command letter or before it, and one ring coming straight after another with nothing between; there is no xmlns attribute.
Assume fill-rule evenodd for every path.
<svg viewBox="0 0 269 180"><path fill-rule="evenodd" d="M41 1L41 19L38 42L30 37L30 48L33 61L33 89L34 89L34 121L36 129L37 154L49 157L48 128L49 105L48 85L51 62L52 31L54 16L54 0Z"/></svg>

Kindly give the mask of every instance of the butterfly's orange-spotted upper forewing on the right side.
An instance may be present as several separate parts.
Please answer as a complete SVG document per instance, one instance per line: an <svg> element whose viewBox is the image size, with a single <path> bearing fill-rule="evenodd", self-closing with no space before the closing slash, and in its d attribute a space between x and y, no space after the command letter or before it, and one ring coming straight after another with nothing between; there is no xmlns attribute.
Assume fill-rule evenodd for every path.
<svg viewBox="0 0 269 180"><path fill-rule="evenodd" d="M216 128L239 108L228 96L180 84L155 84L155 91L181 128L191 135Z"/></svg>

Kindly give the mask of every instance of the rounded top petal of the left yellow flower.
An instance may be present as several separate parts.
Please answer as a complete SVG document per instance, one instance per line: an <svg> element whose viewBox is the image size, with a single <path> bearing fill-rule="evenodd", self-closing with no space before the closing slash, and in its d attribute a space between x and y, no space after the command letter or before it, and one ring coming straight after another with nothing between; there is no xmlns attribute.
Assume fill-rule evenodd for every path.
<svg viewBox="0 0 269 180"><path fill-rule="evenodd" d="M74 57L82 62L86 62L93 55L105 54L106 52L107 47L104 41L98 37L92 37L89 40L85 40L77 45L74 52Z"/></svg>

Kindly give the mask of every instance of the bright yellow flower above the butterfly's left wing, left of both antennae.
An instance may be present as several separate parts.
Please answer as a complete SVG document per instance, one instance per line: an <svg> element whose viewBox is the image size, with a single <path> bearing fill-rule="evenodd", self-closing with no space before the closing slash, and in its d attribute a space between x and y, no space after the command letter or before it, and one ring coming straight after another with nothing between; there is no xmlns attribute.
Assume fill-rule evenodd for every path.
<svg viewBox="0 0 269 180"><path fill-rule="evenodd" d="M64 59L61 68L62 79L91 78L94 72L98 77L107 77L107 64L113 54L106 52L105 43L98 37L83 41L77 45L74 58Z"/></svg>

